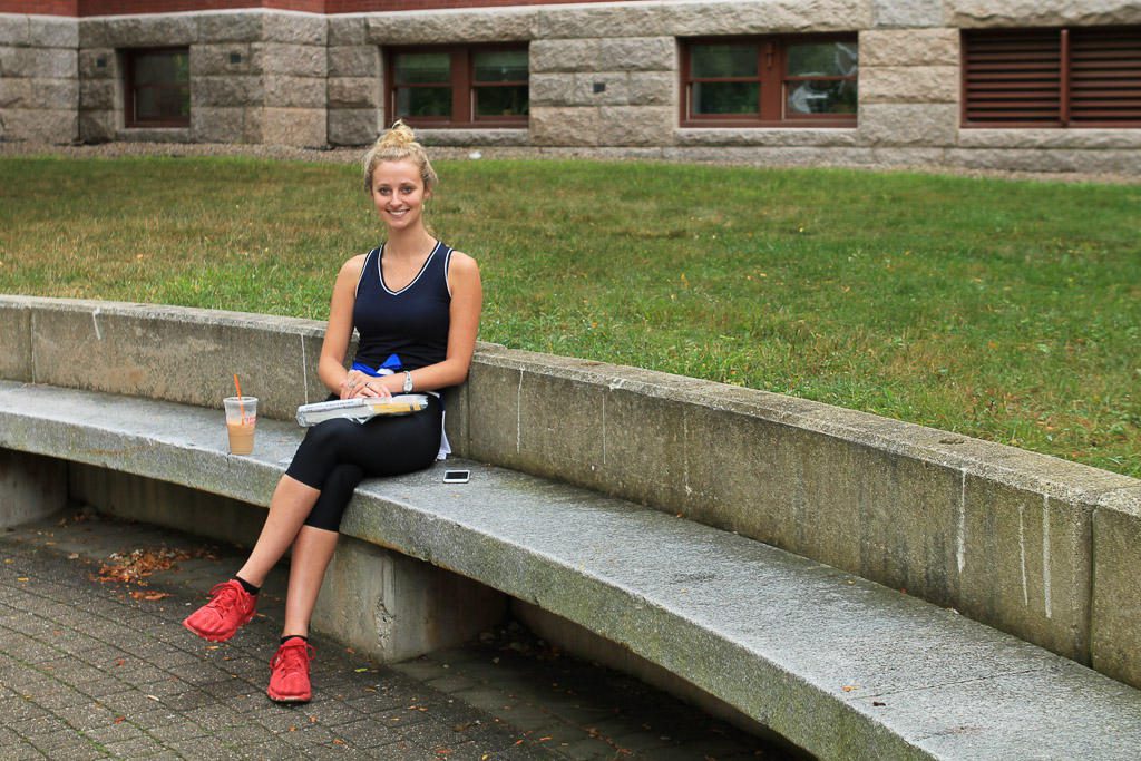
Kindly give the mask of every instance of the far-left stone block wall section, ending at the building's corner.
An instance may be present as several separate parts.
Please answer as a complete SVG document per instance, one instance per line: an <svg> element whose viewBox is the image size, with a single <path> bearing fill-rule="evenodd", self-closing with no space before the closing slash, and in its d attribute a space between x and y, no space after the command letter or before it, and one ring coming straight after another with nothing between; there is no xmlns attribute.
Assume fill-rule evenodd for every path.
<svg viewBox="0 0 1141 761"><path fill-rule="evenodd" d="M79 137L79 22L0 14L0 140Z"/></svg>

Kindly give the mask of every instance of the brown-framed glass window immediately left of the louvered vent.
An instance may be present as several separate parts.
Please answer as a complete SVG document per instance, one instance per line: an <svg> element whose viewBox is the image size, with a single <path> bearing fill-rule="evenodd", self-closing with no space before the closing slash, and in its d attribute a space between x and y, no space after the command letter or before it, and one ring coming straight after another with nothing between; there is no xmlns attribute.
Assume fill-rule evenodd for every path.
<svg viewBox="0 0 1141 761"><path fill-rule="evenodd" d="M855 35L689 40L683 127L855 127Z"/></svg>

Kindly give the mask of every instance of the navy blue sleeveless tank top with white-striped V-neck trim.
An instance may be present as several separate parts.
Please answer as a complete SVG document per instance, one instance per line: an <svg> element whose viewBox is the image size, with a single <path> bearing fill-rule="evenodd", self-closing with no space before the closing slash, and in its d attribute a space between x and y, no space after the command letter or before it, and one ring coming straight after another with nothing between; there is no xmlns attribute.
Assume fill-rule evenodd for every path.
<svg viewBox="0 0 1141 761"><path fill-rule="evenodd" d="M437 242L416 276L399 291L385 283L380 266L383 256L383 245L370 251L357 281L353 326L361 340L356 362L374 370L393 354L399 357L400 370L443 362L452 322L452 292L447 285L452 249Z"/></svg>

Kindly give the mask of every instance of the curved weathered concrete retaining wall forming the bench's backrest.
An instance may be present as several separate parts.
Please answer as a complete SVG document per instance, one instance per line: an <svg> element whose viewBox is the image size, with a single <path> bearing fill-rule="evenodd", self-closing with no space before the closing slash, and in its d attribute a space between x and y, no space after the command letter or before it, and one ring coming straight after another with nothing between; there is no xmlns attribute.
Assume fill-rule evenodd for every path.
<svg viewBox="0 0 1141 761"><path fill-rule="evenodd" d="M323 325L0 297L0 377L268 416L319 398ZM75 363L74 357L83 357ZM1141 481L875 415L480 345L458 454L654 505L859 574L1134 686Z"/></svg>

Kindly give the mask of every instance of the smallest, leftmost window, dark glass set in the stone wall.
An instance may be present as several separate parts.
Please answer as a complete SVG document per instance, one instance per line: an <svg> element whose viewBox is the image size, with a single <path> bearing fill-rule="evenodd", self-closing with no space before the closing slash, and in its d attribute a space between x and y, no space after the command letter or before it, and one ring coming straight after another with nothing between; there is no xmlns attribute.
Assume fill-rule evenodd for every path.
<svg viewBox="0 0 1141 761"><path fill-rule="evenodd" d="M189 127L189 50L128 50L124 58L127 127Z"/></svg>

